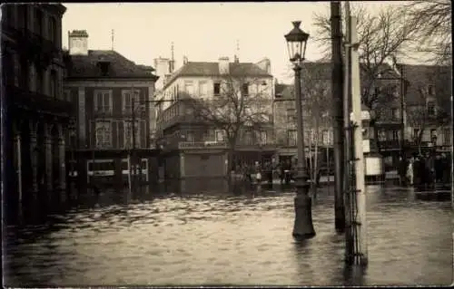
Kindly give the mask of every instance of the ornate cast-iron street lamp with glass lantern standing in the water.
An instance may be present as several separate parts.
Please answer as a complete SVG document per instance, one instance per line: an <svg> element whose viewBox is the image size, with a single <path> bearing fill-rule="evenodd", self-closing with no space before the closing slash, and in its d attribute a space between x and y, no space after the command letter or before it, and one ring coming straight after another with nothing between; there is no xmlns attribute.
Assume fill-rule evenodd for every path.
<svg viewBox="0 0 454 289"><path fill-rule="evenodd" d="M304 155L304 131L302 123L302 101L301 101L301 63L304 61L306 53L306 43L309 34L300 29L301 21L293 21L293 29L285 35L287 41L290 61L293 63L295 71L295 102L297 113L297 144L298 144L298 165L296 175L297 195L294 199L295 224L293 226L293 236L295 238L310 238L315 236L312 225L311 197L309 197L309 184L306 157Z"/></svg>

